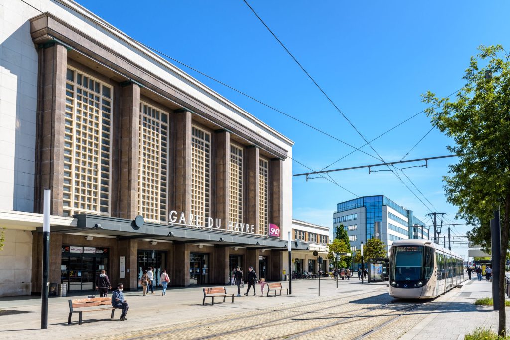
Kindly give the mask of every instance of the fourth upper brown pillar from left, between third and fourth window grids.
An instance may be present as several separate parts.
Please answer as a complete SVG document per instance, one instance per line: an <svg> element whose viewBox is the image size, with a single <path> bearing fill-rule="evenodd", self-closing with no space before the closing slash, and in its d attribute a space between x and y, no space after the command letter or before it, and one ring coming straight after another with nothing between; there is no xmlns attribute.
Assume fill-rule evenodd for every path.
<svg viewBox="0 0 510 340"><path fill-rule="evenodd" d="M221 219L221 229L226 229L230 209L230 133L216 132L216 194L215 218ZM227 264L228 265L228 264Z"/></svg>

